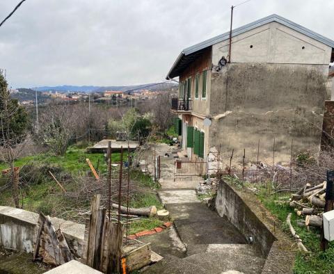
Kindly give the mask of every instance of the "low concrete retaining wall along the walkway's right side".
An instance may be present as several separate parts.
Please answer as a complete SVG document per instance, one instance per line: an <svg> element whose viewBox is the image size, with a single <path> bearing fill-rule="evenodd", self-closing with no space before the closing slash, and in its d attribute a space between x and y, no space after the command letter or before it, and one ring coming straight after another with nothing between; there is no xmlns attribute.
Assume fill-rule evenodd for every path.
<svg viewBox="0 0 334 274"><path fill-rule="evenodd" d="M267 258L262 273L292 273L296 251L292 248L293 242L253 193L236 190L221 181L217 188L216 211L219 216L226 216L245 237L253 237L254 245Z"/></svg>

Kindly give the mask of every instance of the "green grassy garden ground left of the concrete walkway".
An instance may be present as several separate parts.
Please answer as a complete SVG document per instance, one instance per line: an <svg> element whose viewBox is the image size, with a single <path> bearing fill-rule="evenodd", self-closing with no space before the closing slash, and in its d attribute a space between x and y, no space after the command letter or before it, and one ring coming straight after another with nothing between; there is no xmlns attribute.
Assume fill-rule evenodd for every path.
<svg viewBox="0 0 334 274"><path fill-rule="evenodd" d="M90 162L101 177L106 178L107 166L104 161L104 154L88 153L85 149L75 146L69 147L64 156L43 153L26 156L15 161L15 166L20 168L20 207L29 211L42 211L51 216L58 216L81 223L82 216L78 216L77 212L89 210L90 200L80 199L78 202L78 200L72 199L65 194L75 194L82 191L80 189L80 181L82 179L88 178L90 179L89 182L96 182L86 159L90 159ZM123 161L127 160L126 153L123 155L123 159ZM120 162L120 153L112 154L112 162ZM6 170L7 168L9 167L5 163L0 163L0 188L8 182L8 175L1 175L1 170ZM61 191L61 188L49 175L49 170L61 182L66 193ZM140 208L154 205L158 210L161 209L161 202L156 195L159 184L154 182L149 175L141 172L141 170L132 170L130 176L135 188L135 191L130 195L130 207ZM0 192L0 205L15 206L10 188ZM124 202L123 205L125 205ZM162 222L157 218L144 218L130 225L130 233L152 229L161 224Z"/></svg>

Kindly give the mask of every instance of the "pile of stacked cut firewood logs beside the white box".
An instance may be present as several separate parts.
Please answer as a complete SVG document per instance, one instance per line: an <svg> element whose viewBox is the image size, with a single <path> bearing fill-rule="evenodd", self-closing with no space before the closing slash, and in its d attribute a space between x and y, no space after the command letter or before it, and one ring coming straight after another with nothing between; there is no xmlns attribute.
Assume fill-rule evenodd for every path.
<svg viewBox="0 0 334 274"><path fill-rule="evenodd" d="M326 197L326 182L311 186L305 184L289 200L290 207L294 207L297 215L305 216L305 225L321 227L322 213L324 213Z"/></svg>

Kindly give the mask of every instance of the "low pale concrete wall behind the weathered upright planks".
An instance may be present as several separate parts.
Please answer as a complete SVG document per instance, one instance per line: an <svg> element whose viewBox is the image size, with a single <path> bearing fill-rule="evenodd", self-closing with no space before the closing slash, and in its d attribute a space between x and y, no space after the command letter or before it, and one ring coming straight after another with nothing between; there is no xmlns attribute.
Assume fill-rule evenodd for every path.
<svg viewBox="0 0 334 274"><path fill-rule="evenodd" d="M75 250L77 257L84 257L85 225L60 218L51 218L51 222L55 229L61 229L67 244ZM33 252L38 229L38 213L0 206L0 246Z"/></svg>

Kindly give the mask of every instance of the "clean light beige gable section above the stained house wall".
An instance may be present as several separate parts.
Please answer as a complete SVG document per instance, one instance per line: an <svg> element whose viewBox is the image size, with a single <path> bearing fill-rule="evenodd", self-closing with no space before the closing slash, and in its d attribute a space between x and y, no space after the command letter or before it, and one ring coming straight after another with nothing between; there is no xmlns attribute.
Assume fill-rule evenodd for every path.
<svg viewBox="0 0 334 274"><path fill-rule="evenodd" d="M228 56L228 45L229 41L225 40L212 46L214 65L222 56ZM331 51L331 47L317 40L271 22L233 37L231 62L328 65Z"/></svg>

